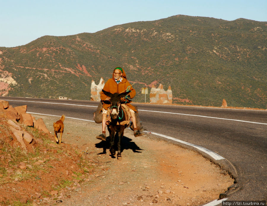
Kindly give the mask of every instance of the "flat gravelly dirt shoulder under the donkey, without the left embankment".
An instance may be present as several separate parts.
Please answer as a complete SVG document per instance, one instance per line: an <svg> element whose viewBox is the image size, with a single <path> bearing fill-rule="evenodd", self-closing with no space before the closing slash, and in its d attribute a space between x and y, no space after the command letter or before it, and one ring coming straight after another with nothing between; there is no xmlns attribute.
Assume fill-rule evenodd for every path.
<svg viewBox="0 0 267 206"><path fill-rule="evenodd" d="M53 134L58 117L32 116L42 118ZM218 199L233 184L228 174L198 153L149 134L134 137L125 129L119 161L109 157L108 145L95 138L101 124L66 118L64 125L62 141L94 153L102 164L90 174L94 178L85 178L71 195L56 194L62 202L50 205L202 205Z"/></svg>

